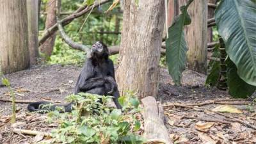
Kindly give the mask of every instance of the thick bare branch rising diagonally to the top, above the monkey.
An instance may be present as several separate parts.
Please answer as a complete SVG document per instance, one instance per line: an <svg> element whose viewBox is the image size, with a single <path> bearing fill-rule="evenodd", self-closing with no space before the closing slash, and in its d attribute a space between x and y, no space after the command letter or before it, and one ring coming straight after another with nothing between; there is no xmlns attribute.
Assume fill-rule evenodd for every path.
<svg viewBox="0 0 256 144"><path fill-rule="evenodd" d="M93 6L81 6L71 15L68 15L64 19L61 19L60 23L62 24L62 26L66 26L67 24L72 22L72 20L76 19L77 17L81 17L85 13L90 12L90 10L92 10L93 8L97 8L97 6L99 6L100 4L108 3L109 1L110 0L100 0L100 2L96 3L94 7ZM47 40L47 38L49 38L57 30L58 30L58 24L54 24L51 28L46 29L45 32L43 33L42 37L39 40L39 46L44 44L45 40Z"/></svg>

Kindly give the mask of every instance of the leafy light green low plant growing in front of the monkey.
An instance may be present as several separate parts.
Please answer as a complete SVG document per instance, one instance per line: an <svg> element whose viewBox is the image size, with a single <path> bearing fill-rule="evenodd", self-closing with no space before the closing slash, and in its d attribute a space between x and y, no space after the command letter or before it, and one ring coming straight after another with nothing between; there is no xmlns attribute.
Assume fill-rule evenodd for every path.
<svg viewBox="0 0 256 144"><path fill-rule="evenodd" d="M143 143L136 134L141 124L134 116L140 110L135 97L120 97L124 112L107 106L110 96L79 93L67 99L76 103L72 113L52 111L48 115L49 122L59 124L52 131L51 143Z"/></svg>

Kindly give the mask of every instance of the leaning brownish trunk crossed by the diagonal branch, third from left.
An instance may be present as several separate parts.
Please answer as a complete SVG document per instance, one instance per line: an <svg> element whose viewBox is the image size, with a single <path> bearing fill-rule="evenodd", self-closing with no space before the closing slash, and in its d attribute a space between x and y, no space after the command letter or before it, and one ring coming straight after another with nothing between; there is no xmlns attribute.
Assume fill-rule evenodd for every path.
<svg viewBox="0 0 256 144"><path fill-rule="evenodd" d="M56 0L49 0L47 3L47 16L45 22L45 29L51 28L56 24ZM45 54L46 57L51 56L54 47L56 33L51 35L45 42L40 46L40 51Z"/></svg>

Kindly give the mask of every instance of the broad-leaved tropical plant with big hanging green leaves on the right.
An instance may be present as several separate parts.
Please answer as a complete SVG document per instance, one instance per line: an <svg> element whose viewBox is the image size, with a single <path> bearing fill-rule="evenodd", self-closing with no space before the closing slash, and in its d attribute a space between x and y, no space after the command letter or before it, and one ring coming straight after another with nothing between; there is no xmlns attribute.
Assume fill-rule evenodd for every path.
<svg viewBox="0 0 256 144"><path fill-rule="evenodd" d="M170 37L166 41L166 61L175 84L180 84L180 77L186 66L187 47L182 35L186 23L179 22L180 17L185 17L184 13L187 13L184 10L186 9L179 15L178 22L175 20L169 28ZM228 56L226 63L229 93L234 97L248 97L256 90L256 1L221 0L216 8L215 20ZM220 74L220 63L210 65L212 72L207 83L215 85L217 75Z"/></svg>

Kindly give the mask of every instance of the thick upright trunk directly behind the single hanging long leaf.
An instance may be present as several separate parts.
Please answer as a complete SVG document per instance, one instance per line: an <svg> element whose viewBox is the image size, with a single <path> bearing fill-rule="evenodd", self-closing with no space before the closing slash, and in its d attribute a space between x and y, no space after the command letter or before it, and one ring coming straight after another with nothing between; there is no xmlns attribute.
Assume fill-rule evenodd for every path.
<svg viewBox="0 0 256 144"><path fill-rule="evenodd" d="M188 0L180 0L180 6ZM188 68L207 73L207 0L193 1L188 8L192 22L186 26L188 42Z"/></svg>

